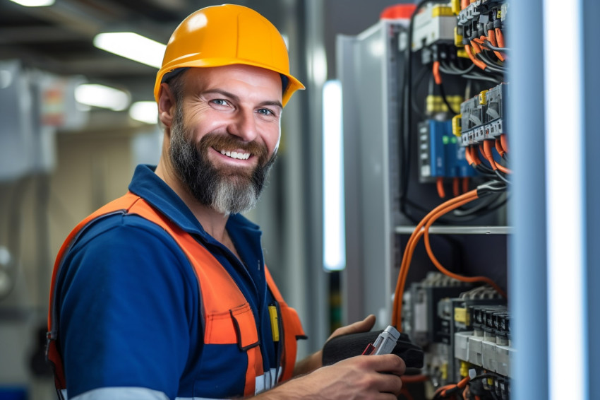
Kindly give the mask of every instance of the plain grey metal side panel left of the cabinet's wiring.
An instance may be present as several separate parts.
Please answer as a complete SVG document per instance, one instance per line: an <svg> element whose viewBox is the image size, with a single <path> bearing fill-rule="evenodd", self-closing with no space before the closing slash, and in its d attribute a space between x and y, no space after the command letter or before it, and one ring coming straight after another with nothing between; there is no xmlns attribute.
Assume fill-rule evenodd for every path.
<svg viewBox="0 0 600 400"><path fill-rule="evenodd" d="M359 36L338 37L347 207L344 317L352 322L376 314L380 327L390 322L396 281L390 187L397 134L394 24L382 20Z"/></svg>

